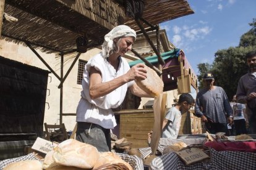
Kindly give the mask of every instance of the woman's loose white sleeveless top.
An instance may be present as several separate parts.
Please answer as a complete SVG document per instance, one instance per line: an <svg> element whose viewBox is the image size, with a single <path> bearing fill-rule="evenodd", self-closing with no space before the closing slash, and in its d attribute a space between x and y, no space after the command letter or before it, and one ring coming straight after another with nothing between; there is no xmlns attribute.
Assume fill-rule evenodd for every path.
<svg viewBox="0 0 256 170"><path fill-rule="evenodd" d="M103 59L101 53L96 54L85 65L82 79L82 98L77 107L77 122L95 123L106 129L113 129L114 126L116 126L116 119L114 118L114 113L111 108L117 108L122 104L124 97L126 97L127 88L132 86L134 81L130 81L118 87L113 92L103 97L91 99L89 94L89 72L91 67L100 71L103 83L124 75L129 71L130 67L125 59L122 59L122 57L119 59L120 62L117 72L108 61Z"/></svg>

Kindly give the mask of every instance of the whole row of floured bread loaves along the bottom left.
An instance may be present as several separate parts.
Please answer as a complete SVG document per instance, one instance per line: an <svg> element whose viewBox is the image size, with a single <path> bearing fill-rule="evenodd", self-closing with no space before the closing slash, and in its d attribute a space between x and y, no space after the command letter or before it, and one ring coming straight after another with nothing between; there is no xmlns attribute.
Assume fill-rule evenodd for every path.
<svg viewBox="0 0 256 170"><path fill-rule="evenodd" d="M100 170L111 165L119 166L124 170L132 170L129 163L114 153L100 153L92 145L84 144L75 139L68 139L48 152L43 163L37 160L19 161L8 164L4 170Z"/></svg>

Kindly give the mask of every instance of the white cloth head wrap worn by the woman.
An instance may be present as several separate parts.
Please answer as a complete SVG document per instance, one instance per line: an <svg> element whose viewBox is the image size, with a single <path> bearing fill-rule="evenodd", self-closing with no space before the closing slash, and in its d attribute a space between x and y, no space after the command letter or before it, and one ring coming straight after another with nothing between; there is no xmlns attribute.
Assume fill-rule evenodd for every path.
<svg viewBox="0 0 256 170"><path fill-rule="evenodd" d="M114 50L113 39L124 36L132 36L136 39L136 32L127 25L118 25L105 35L104 42L102 44L102 54L105 59L106 57L109 57L109 52Z"/></svg>

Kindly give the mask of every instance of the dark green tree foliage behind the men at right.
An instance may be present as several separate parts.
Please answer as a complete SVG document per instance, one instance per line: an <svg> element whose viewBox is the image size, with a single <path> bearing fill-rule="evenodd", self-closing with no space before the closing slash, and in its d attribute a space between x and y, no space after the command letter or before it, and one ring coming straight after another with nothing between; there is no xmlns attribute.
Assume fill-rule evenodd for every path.
<svg viewBox="0 0 256 170"><path fill-rule="evenodd" d="M242 75L247 73L245 54L256 49L256 19L249 23L252 28L241 36L239 46L221 49L215 53L215 60L210 65L199 63L197 65L200 75L198 81L202 84L202 76L211 71L215 76L215 85L223 87L229 99L236 94L237 84ZM202 88L202 85L199 86Z"/></svg>

